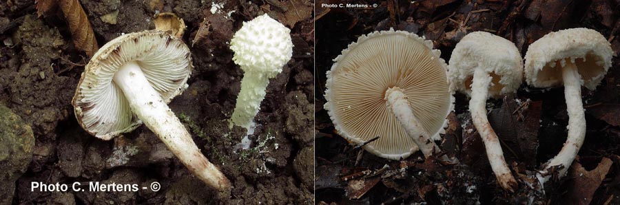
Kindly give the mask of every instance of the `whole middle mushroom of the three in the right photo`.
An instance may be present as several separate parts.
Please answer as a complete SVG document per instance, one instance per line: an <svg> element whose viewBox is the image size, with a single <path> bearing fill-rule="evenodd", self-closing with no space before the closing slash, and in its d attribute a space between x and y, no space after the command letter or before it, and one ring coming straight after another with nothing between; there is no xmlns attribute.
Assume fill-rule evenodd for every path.
<svg viewBox="0 0 620 205"><path fill-rule="evenodd" d="M471 96L469 110L497 182L514 191L517 181L504 160L504 152L486 118L486 100L517 91L523 79L523 61L514 43L488 32L463 37L452 52L448 78L453 91Z"/></svg>

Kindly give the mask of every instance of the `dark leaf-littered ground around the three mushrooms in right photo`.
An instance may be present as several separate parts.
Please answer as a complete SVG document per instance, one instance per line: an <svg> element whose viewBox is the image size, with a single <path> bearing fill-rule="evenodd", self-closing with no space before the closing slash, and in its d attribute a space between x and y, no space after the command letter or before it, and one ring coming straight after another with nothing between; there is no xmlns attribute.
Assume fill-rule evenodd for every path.
<svg viewBox="0 0 620 205"><path fill-rule="evenodd" d="M322 108L325 72L331 68L332 59L362 34L389 28L414 32L433 40L448 62L456 43L469 32L503 36L524 55L530 43L548 32L585 27L610 39L617 53L617 1L385 1L368 9L327 9L320 3L333 2L316 4L316 202L527 204L533 199L534 204L620 203L620 61L616 57L596 91L583 89L586 141L568 176L546 184L546 195L526 184L532 182L528 175L556 155L566 141L568 116L561 87L533 89L523 85L516 96L488 101L492 105L489 120L519 179L517 193L504 192L495 182L482 141L471 125L468 98L462 94L456 96L446 135L437 142L448 155L458 158L459 164L424 160L421 153L401 161L385 160L353 149L356 144L350 145L335 133ZM521 103L526 105L521 107ZM598 178L592 180L596 177L591 175ZM583 176L590 180L583 180Z"/></svg>

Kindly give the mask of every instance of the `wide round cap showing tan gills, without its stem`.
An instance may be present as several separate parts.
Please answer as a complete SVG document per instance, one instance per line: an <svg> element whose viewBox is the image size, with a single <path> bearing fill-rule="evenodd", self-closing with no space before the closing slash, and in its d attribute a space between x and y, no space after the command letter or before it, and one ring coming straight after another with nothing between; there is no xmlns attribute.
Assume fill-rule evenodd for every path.
<svg viewBox="0 0 620 205"><path fill-rule="evenodd" d="M355 144L380 136L364 149L382 158L399 160L417 151L384 99L387 89L400 87L425 131L440 139L454 100L446 63L431 41L404 31L372 32L333 61L324 107L340 136Z"/></svg>

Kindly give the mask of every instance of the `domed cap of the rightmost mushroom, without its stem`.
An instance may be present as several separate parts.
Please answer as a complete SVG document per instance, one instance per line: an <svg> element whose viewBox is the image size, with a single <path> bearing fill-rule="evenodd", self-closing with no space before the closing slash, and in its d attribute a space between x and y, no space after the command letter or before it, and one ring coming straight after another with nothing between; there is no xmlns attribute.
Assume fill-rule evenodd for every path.
<svg viewBox="0 0 620 205"><path fill-rule="evenodd" d="M596 89L611 66L613 50L603 35L588 28L570 28L550 32L528 47L526 52L526 81L533 87L564 85L561 67L557 62L575 59L583 79L581 85ZM568 59L567 59L568 58Z"/></svg>

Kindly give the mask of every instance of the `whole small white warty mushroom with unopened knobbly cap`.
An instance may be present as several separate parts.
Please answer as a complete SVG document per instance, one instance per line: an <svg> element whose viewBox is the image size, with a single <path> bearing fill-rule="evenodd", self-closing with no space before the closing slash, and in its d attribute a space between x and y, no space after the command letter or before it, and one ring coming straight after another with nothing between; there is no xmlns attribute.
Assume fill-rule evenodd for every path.
<svg viewBox="0 0 620 205"><path fill-rule="evenodd" d="M241 91L237 96L231 122L252 133L254 116L265 98L269 78L282 72L293 55L291 30L267 14L244 22L230 41L233 60L243 70Z"/></svg>

